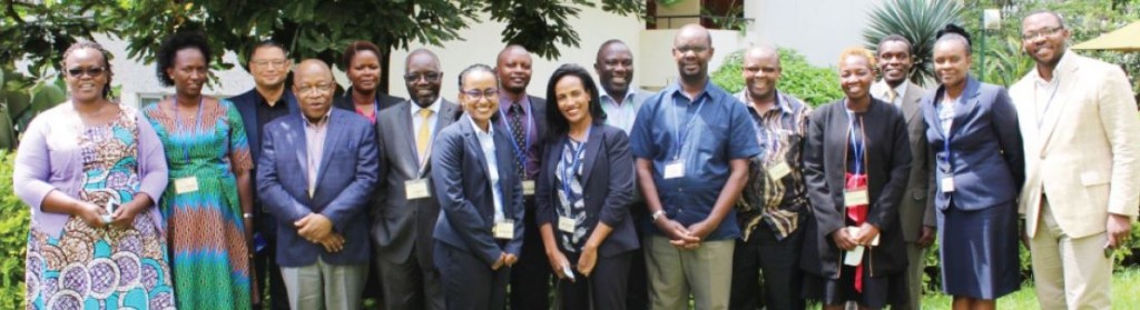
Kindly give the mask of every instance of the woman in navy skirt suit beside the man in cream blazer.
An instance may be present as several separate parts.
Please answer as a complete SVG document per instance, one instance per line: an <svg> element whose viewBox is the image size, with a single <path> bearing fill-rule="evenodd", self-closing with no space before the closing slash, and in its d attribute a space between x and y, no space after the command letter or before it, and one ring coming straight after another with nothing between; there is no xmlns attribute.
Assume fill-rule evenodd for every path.
<svg viewBox="0 0 1140 310"><path fill-rule="evenodd" d="M942 246L942 285L954 309L994 309L1019 286L1016 198L1025 181L1017 111L1005 89L969 76L970 40L939 31L942 85L922 98Z"/></svg>

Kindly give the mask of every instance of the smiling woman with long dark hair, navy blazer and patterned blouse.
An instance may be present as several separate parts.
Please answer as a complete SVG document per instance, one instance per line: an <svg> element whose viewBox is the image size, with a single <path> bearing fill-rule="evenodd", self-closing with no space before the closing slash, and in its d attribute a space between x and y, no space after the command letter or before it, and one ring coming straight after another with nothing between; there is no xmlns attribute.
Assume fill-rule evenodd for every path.
<svg viewBox="0 0 1140 310"><path fill-rule="evenodd" d="M583 67L562 65L546 98L549 138L535 195L536 221L563 309L625 309L637 235L629 215L629 138L605 125L597 87Z"/></svg>

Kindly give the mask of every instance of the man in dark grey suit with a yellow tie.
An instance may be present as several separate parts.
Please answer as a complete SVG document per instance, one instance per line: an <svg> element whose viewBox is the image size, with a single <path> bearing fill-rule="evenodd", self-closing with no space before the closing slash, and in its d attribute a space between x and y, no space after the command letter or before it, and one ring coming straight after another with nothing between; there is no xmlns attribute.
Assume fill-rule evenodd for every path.
<svg viewBox="0 0 1140 310"><path fill-rule="evenodd" d="M404 81L412 99L380 112L380 176L372 207L374 262L386 309L443 309L432 264L432 230L439 201L431 190L430 154L435 132L451 124L458 106L439 96L443 73L426 49L408 54Z"/></svg>

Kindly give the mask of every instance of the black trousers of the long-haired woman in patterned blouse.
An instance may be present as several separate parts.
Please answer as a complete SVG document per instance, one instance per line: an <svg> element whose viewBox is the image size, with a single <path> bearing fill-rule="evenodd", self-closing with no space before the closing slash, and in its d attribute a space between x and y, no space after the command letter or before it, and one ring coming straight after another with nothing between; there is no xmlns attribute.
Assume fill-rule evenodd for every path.
<svg viewBox="0 0 1140 310"><path fill-rule="evenodd" d="M567 253L571 266L578 266L578 255ZM559 280L561 309L621 310L626 309L626 287L629 282L629 261L633 252L610 258L597 256L589 278L570 268L575 282ZM514 309L514 308L512 308Z"/></svg>

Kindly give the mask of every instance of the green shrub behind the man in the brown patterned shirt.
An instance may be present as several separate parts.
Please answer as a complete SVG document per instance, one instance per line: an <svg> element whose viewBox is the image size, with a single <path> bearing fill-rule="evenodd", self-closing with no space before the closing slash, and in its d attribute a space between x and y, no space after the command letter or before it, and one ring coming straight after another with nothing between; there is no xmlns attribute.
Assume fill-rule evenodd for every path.
<svg viewBox="0 0 1140 310"><path fill-rule="evenodd" d="M839 74L834 68L816 67L792 49L780 48L780 81L776 89L796 96L808 105L819 106L844 97L839 89ZM712 83L735 93L744 89L744 51L733 51L712 73Z"/></svg>

